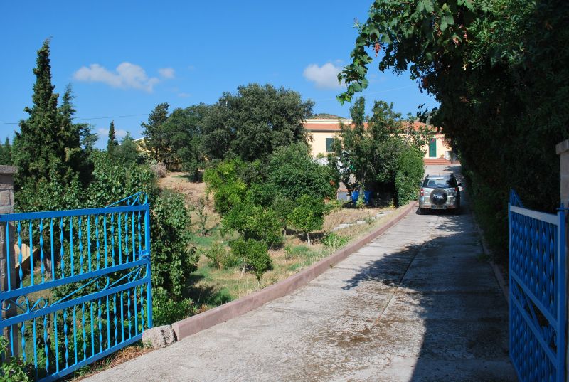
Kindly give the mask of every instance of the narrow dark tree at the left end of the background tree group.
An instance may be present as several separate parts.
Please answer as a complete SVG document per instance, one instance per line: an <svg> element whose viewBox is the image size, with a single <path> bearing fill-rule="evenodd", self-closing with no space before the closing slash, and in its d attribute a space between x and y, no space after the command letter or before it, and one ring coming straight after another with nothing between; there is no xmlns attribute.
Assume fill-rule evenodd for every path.
<svg viewBox="0 0 569 382"><path fill-rule="evenodd" d="M144 135L144 146L148 149L153 159L169 166L169 141L166 136L164 124L168 120L169 105L159 103L154 107L148 116L147 122L142 122L142 135Z"/></svg>

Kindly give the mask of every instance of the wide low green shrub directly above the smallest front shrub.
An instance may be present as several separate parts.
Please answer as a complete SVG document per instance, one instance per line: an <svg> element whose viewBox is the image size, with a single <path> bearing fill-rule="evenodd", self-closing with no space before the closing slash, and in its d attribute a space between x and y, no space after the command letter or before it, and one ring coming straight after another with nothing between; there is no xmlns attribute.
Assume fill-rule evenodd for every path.
<svg viewBox="0 0 569 382"><path fill-rule="evenodd" d="M221 223L224 230L236 230L243 238L262 241L268 247L282 243L282 226L271 208L245 201L231 208Z"/></svg>

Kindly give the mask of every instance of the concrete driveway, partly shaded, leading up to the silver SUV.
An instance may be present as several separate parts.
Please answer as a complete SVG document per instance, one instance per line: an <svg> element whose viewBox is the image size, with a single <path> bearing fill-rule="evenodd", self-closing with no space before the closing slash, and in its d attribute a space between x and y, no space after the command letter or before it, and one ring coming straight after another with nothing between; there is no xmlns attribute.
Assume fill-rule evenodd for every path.
<svg viewBox="0 0 569 382"><path fill-rule="evenodd" d="M464 204L413 211L294 294L89 381L516 381Z"/></svg>

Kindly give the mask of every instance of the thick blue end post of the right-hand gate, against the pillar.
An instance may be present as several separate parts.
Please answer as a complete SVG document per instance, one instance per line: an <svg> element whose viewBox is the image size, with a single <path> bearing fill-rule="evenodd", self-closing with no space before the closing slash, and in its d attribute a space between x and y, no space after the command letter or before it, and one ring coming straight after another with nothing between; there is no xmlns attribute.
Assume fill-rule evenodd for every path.
<svg viewBox="0 0 569 382"><path fill-rule="evenodd" d="M558 250L557 250L557 275L558 275L558 304L557 304L557 381L565 381L565 324L566 324L566 265L565 265L565 209L561 203L558 216Z"/></svg>

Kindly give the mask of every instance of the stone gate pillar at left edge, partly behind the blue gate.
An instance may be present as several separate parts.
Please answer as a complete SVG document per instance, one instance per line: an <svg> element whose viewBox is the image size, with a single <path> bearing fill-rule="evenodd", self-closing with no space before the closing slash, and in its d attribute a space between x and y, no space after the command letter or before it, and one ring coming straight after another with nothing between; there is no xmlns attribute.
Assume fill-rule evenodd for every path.
<svg viewBox="0 0 569 382"><path fill-rule="evenodd" d="M16 166L0 165L0 213L14 212L14 174ZM10 255L10 272L8 272L8 254ZM9 226L9 236L6 238L6 225L0 224L0 287L1 290L8 290L8 284L12 289L16 287L16 255L14 253L14 226ZM16 312L14 304L11 309L2 312L2 317L11 317ZM10 333L10 331L13 331ZM14 356L18 351L18 330L16 327L4 328L4 338L14 340ZM10 334L12 334L10 336Z"/></svg>

